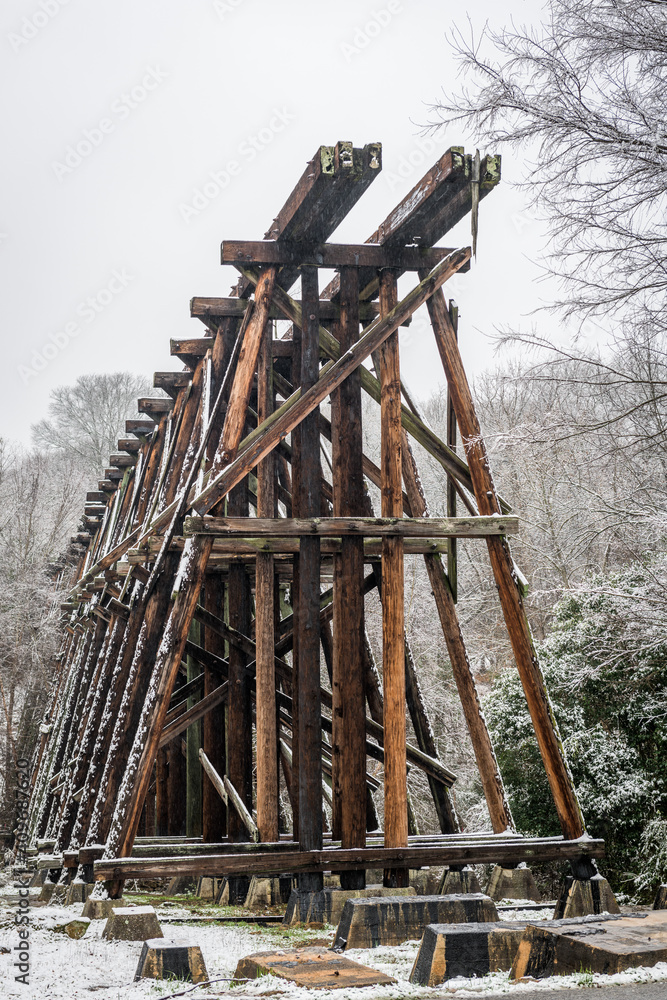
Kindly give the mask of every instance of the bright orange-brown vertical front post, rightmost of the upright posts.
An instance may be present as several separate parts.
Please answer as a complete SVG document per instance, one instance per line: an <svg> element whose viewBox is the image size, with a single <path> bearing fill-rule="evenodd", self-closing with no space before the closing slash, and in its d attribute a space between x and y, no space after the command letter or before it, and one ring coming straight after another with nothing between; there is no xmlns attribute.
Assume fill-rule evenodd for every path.
<svg viewBox="0 0 667 1000"><path fill-rule="evenodd" d="M380 274L380 314L398 301L396 276ZM382 420L382 516L403 516L401 478L401 376L398 330L380 347ZM405 652L403 539L382 539L382 686L384 694L384 842L407 847L408 802L405 759ZM407 868L386 869L386 886L407 886Z"/></svg>

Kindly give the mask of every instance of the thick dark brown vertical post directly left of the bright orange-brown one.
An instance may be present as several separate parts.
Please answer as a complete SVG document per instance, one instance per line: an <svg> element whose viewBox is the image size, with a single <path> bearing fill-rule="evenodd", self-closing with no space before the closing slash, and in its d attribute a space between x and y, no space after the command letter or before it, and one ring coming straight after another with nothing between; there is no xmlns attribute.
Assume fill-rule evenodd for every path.
<svg viewBox="0 0 667 1000"><path fill-rule="evenodd" d="M359 272L340 272L341 351L359 339ZM332 394L334 517L364 514L361 379L359 371ZM346 536L334 573L333 761L334 837L343 847L366 846L364 708L364 542ZM341 872L343 889L363 889L365 872Z"/></svg>

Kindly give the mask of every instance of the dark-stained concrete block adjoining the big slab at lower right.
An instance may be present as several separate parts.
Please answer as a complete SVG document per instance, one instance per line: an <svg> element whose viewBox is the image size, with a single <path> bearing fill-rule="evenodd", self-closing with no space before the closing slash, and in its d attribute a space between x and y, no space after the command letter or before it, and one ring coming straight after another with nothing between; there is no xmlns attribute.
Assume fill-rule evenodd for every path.
<svg viewBox="0 0 667 1000"><path fill-rule="evenodd" d="M419 945L410 982L439 986L455 976L505 972L521 943L525 923L429 924Z"/></svg>

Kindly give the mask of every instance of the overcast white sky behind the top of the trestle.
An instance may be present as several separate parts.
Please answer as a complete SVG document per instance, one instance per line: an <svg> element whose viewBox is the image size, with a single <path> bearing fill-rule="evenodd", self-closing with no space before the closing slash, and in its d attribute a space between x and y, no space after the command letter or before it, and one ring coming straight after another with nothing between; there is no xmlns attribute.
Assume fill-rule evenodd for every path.
<svg viewBox="0 0 667 1000"><path fill-rule="evenodd" d="M220 241L261 239L321 144L383 144L383 174L334 236L363 242L464 138L441 133L420 152L416 123L441 87L456 84L451 26L465 29L467 14L479 26L534 22L541 8L5 0L0 436L27 443L50 390L80 374L178 369L169 338L203 332L190 298L226 295L235 281L218 263ZM211 174L224 179L230 161L238 169L216 192ZM495 324L518 324L549 298L530 262L544 233L508 183L519 175L506 156L505 182L481 205L478 260L445 287L461 309L472 373L493 364L486 335ZM207 193L197 199L197 190ZM468 244L468 223L445 242ZM401 333L401 351L423 398L442 382L423 321Z"/></svg>

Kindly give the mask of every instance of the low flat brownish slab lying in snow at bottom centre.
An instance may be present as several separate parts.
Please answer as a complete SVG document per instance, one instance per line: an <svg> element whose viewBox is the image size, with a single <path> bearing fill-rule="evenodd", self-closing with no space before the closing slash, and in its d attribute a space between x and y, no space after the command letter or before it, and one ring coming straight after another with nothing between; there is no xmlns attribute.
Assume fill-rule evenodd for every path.
<svg viewBox="0 0 667 1000"><path fill-rule="evenodd" d="M242 958L234 978L256 979L268 974L309 989L341 990L352 986L391 986L396 980L323 948L259 951Z"/></svg>

